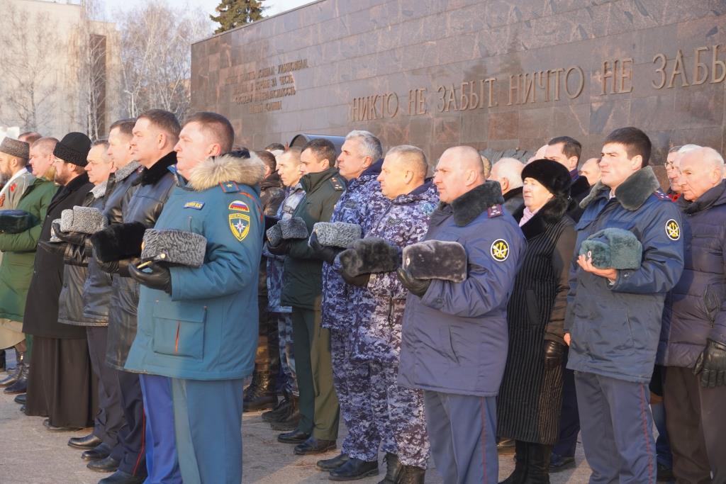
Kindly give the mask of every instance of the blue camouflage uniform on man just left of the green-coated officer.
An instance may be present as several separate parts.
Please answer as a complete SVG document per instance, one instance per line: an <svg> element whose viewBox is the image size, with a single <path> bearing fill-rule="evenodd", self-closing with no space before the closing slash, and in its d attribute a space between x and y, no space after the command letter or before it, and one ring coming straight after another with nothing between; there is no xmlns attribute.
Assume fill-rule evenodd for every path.
<svg viewBox="0 0 726 484"><path fill-rule="evenodd" d="M292 218L295 208L305 197L301 184L286 189L285 200L277 209L277 218ZM265 245L263 254L267 258L267 304L269 311L277 317L277 335L280 343L280 369L285 375L285 390L298 396L298 380L295 378L295 356L293 355L293 319L290 313L293 308L280 303L282 295L282 273L284 272L285 255L273 255Z"/></svg>

